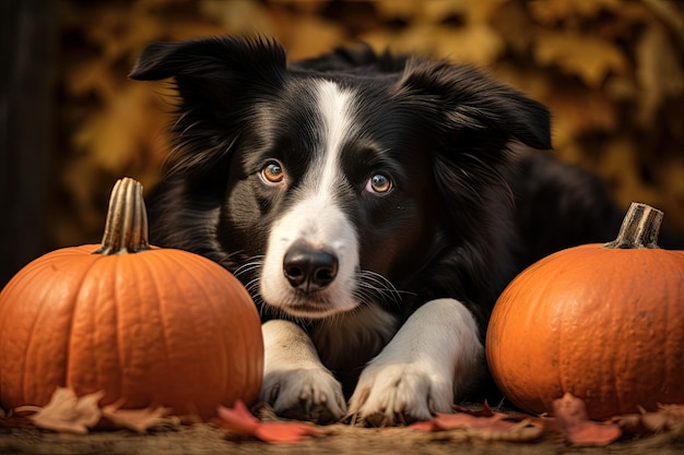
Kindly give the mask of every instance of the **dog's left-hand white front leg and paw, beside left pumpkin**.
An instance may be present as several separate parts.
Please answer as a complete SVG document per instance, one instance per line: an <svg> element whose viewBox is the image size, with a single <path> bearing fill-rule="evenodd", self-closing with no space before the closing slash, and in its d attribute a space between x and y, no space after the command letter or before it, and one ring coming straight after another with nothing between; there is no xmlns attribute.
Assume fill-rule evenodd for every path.
<svg viewBox="0 0 684 455"><path fill-rule="evenodd" d="M266 355L259 398L287 418L328 423L344 416L342 386L321 363L309 336L281 320L266 322L261 330Z"/></svg>

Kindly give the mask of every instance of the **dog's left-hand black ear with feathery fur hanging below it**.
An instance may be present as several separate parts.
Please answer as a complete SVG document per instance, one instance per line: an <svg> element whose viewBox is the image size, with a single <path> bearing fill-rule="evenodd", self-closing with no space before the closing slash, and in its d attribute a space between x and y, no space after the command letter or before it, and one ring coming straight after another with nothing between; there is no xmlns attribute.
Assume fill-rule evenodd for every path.
<svg viewBox="0 0 684 455"><path fill-rule="evenodd" d="M250 121L255 99L276 94L286 74L285 51L275 41L216 37L153 43L129 76L174 79L179 96L176 147L166 172L199 176L204 182L224 168L216 163L228 156L241 125ZM194 128L198 124L202 127Z"/></svg>

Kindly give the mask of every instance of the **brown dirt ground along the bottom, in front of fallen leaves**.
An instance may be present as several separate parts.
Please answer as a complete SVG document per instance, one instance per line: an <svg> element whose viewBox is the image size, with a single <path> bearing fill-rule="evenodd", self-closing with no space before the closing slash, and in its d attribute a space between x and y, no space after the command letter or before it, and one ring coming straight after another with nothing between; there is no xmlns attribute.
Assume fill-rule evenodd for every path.
<svg viewBox="0 0 684 455"><path fill-rule="evenodd" d="M406 428L367 429L346 424L322 427L326 434L298 444L232 441L210 423L184 426L144 434L132 431L95 431L86 435L37 430L0 429L0 454L684 454L684 440L668 434L618 441L606 447L571 447L559 435L534 443L483 441L462 430L423 432Z"/></svg>

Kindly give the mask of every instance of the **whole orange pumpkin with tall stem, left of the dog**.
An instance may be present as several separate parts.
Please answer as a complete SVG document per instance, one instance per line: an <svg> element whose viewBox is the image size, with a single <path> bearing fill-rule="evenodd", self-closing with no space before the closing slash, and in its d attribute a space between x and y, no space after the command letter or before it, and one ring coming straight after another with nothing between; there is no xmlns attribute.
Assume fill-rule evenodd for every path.
<svg viewBox="0 0 684 455"><path fill-rule="evenodd" d="M255 400L257 309L216 263L148 244L142 187L117 182L101 246L36 259L0 294L0 403L43 406L57 386L102 405L210 418Z"/></svg>

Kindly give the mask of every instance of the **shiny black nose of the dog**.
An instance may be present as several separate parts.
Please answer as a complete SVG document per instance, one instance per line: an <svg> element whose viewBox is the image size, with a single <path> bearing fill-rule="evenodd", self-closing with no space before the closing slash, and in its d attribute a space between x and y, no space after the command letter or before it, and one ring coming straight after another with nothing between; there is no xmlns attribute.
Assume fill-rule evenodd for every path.
<svg viewBox="0 0 684 455"><path fill-rule="evenodd" d="M338 256L297 241L285 253L283 272L293 288L305 292L323 289L338 275Z"/></svg>

